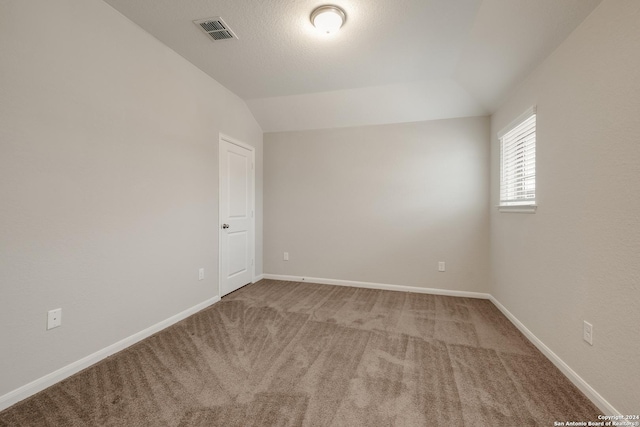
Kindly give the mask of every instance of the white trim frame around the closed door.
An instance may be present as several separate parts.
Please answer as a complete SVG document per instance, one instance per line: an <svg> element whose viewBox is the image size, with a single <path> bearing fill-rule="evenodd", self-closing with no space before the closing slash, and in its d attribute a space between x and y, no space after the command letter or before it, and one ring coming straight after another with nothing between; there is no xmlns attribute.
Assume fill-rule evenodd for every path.
<svg viewBox="0 0 640 427"><path fill-rule="evenodd" d="M222 298L222 238L221 238L221 227L222 227L222 168L220 167L220 163L222 162L222 141L227 142L229 144L237 145L238 147L244 148L251 152L251 188L253 197L250 200L251 203L251 237L249 239L249 244L251 245L251 282L255 282L256 278L256 148L252 145L246 144L242 141L238 141L235 138L232 138L224 133L220 132L218 136L218 295Z"/></svg>

